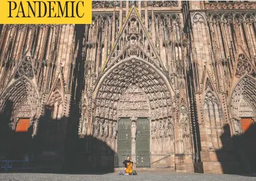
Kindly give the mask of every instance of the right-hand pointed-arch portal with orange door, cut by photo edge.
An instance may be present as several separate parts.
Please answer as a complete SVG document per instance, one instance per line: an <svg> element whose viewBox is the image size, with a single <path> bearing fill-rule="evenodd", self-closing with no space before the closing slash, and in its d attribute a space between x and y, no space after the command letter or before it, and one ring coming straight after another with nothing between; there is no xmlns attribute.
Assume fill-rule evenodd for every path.
<svg viewBox="0 0 256 181"><path fill-rule="evenodd" d="M240 77L240 76L239 76ZM239 138L236 149L246 172L256 172L255 117L256 80L245 74L237 81L230 93L230 110L233 134Z"/></svg>

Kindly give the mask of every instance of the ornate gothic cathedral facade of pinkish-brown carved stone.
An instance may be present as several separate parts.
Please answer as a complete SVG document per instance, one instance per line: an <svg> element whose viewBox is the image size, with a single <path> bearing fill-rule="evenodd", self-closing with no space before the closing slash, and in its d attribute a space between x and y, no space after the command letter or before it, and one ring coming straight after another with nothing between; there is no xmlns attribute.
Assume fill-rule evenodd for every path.
<svg viewBox="0 0 256 181"><path fill-rule="evenodd" d="M0 26L1 158L14 148L6 134L26 132L23 154L37 163L64 164L75 145L149 155L149 167L167 155L162 168L179 172L239 170L232 138L256 116L256 3L92 8L91 25Z"/></svg>

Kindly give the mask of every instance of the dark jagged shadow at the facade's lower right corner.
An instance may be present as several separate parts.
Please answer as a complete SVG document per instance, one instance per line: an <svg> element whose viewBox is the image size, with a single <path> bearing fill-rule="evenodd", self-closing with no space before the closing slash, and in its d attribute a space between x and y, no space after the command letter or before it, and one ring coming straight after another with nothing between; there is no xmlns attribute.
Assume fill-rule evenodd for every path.
<svg viewBox="0 0 256 181"><path fill-rule="evenodd" d="M223 173L238 175L256 173L256 124L251 124L243 134L234 135L233 137L230 137L230 126L228 124L223 128L224 133L221 136L223 148L216 151ZM230 138L231 141L229 141ZM230 162L231 165L227 164ZM238 169L235 169L236 164Z"/></svg>

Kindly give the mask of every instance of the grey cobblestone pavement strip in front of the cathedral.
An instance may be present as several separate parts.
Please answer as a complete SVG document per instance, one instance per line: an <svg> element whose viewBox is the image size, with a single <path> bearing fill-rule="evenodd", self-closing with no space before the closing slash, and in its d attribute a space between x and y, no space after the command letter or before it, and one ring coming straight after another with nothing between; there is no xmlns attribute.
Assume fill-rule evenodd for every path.
<svg viewBox="0 0 256 181"><path fill-rule="evenodd" d="M51 173L1 173L0 180L256 180L256 177L240 175L215 175L199 173L138 173L136 176L117 175L106 173L103 175L75 175L75 174L51 174Z"/></svg>

